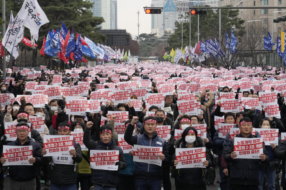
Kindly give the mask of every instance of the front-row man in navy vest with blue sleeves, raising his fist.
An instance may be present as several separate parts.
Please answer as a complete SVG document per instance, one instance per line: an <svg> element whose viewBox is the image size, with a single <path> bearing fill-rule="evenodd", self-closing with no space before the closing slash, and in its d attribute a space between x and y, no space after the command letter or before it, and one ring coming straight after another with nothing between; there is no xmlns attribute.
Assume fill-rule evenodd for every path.
<svg viewBox="0 0 286 190"><path fill-rule="evenodd" d="M153 116L148 116L143 120L144 133L133 135L134 124L138 120L138 117L133 116L132 121L127 126L124 134L124 140L130 145L143 145L152 147L163 147L163 154L159 155L159 158L163 161L163 164L169 162L169 153L167 148L167 142L158 136L156 132L157 120ZM147 164L144 162L135 162L135 170L133 172L135 176L136 190L160 190L162 181L162 167L155 164Z"/></svg>

